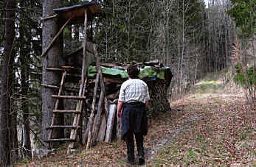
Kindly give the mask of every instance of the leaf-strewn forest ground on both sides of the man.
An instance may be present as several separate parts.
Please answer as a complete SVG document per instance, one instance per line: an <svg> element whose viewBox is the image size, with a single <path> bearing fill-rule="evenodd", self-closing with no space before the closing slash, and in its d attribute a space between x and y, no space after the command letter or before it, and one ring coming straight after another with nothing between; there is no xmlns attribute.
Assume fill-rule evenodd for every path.
<svg viewBox="0 0 256 167"><path fill-rule="evenodd" d="M243 92L204 81L171 104L172 110L150 121L145 165L256 166L256 106L246 103ZM125 166L125 154L125 143L115 141L75 154L60 149L16 166Z"/></svg>

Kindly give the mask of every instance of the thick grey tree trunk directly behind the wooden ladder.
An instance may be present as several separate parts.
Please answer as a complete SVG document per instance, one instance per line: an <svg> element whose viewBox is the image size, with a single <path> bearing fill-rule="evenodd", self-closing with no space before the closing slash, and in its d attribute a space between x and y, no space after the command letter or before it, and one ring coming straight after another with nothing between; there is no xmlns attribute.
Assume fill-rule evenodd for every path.
<svg viewBox="0 0 256 167"><path fill-rule="evenodd" d="M54 8L60 7L60 1L43 1L43 18L54 15ZM42 48L43 52L46 50L49 43L58 33L59 25L55 18L47 19L43 22L43 32L42 32ZM61 35L60 35L61 36ZM60 38L55 40L55 43L49 49L47 54L43 57L43 71L42 71L42 83L44 85L58 85L60 83L60 76L55 73L55 71L46 71L47 67L58 68L59 66L59 57L61 54L62 43L60 43ZM57 94L56 90L43 87L42 88L42 134L41 137L43 141L46 141L48 138L48 132L46 127L49 127L52 120L52 109L55 106L55 100L52 99L52 94ZM63 116L56 116L55 124L63 124ZM56 129L54 136L62 138L64 133L63 130Z"/></svg>

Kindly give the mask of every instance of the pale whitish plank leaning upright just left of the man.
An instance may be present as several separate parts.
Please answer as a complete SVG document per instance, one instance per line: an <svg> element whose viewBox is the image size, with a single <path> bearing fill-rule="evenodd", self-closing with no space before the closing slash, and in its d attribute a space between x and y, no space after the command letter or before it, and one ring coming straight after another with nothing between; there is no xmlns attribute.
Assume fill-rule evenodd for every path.
<svg viewBox="0 0 256 167"><path fill-rule="evenodd" d="M115 117L116 111L117 111L117 105L116 104L110 104L109 105L107 130L105 132L105 142L111 142L112 129L113 129L113 126L114 126L114 117Z"/></svg>

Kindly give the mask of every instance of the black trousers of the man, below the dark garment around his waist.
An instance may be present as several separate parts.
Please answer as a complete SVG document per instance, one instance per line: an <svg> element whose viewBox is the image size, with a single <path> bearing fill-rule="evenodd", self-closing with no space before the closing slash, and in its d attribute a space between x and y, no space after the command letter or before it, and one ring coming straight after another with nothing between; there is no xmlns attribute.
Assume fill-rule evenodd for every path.
<svg viewBox="0 0 256 167"><path fill-rule="evenodd" d="M125 142L127 146L127 155L129 161L134 161L134 135L136 139L136 146L139 158L144 158L144 146L143 146L143 135L142 132L134 132L136 129L136 110L130 112L130 129L125 136Z"/></svg>

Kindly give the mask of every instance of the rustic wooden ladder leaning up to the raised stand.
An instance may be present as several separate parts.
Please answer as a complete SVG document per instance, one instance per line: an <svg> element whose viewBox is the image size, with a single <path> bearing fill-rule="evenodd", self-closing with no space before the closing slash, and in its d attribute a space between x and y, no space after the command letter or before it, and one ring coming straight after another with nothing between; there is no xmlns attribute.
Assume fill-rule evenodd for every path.
<svg viewBox="0 0 256 167"><path fill-rule="evenodd" d="M56 68L55 70L57 70L57 69L58 68ZM55 98L56 102L55 102L55 107L52 110L53 116L52 116L51 126L46 128L46 129L49 129L49 136L48 136L48 140L47 140L47 142L48 142L47 149L51 149L52 142L69 141L70 143L69 143L68 152L70 152L70 149L74 148L74 145L75 145L75 141L76 141L76 137L77 137L77 129L81 128L79 126L79 122L80 122L80 117L82 114L83 100L86 99L86 97L85 97L86 80L82 79L83 83L80 83L80 90L79 90L78 96L62 96L61 93L63 91L63 85L64 85L64 80L66 78L67 70L62 70L62 69L58 69L58 70L63 71L63 73L62 73L62 77L61 77L60 87L58 90L58 95L52 95L52 98ZM76 105L76 109L75 110L58 110L58 105L59 105L60 99L77 99L78 102ZM56 125L55 124L56 114L64 114L64 113L74 114L72 125ZM55 128L72 129L71 133L70 133L70 137L69 138L52 138L53 129L55 129Z"/></svg>

